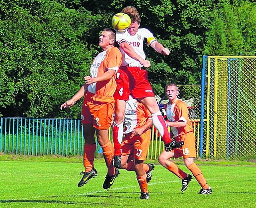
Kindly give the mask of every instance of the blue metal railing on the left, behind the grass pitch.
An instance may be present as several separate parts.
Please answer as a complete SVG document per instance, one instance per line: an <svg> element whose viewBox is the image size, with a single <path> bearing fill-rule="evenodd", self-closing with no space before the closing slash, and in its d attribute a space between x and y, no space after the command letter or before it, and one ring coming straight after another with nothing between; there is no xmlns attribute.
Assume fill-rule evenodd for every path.
<svg viewBox="0 0 256 208"><path fill-rule="evenodd" d="M20 155L82 155L80 119L0 119L0 151Z"/></svg>

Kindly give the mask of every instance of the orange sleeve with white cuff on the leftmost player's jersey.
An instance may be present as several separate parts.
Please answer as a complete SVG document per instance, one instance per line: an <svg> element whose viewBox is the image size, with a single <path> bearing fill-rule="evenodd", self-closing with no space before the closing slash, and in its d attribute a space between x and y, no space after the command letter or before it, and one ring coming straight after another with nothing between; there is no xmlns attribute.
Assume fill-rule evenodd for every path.
<svg viewBox="0 0 256 208"><path fill-rule="evenodd" d="M122 63L122 54L117 47L112 48L108 54L108 62L106 63L106 70L113 69L118 71Z"/></svg>

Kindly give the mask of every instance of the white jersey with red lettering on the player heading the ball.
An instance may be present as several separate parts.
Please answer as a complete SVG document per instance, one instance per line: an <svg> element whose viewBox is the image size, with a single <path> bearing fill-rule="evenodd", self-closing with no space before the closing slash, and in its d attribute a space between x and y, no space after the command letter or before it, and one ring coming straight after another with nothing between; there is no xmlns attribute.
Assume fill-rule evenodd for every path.
<svg viewBox="0 0 256 208"><path fill-rule="evenodd" d="M146 55L144 53L143 49L143 43L144 39L147 40L147 43L151 45L156 39L154 38L154 35L146 28L139 28L138 32L135 35L130 35L128 31L125 32L116 32L116 42L120 45L120 43L126 42L128 43L134 51L142 57L142 59L146 58ZM135 59L128 56L126 53L124 53L123 49L120 47L120 51L123 55L123 62L122 66L126 67L143 67L143 65L136 61Z"/></svg>

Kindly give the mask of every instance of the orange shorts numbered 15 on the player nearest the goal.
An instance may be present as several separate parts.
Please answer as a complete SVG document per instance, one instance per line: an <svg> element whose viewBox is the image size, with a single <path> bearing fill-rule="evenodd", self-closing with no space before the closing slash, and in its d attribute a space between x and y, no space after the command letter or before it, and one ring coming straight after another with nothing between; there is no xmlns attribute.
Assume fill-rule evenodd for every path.
<svg viewBox="0 0 256 208"><path fill-rule="evenodd" d="M194 132L188 132L182 134L174 139L175 141L184 141L184 145L181 148L176 148L172 150L174 152L174 157L196 157L196 147L195 147L195 136Z"/></svg>

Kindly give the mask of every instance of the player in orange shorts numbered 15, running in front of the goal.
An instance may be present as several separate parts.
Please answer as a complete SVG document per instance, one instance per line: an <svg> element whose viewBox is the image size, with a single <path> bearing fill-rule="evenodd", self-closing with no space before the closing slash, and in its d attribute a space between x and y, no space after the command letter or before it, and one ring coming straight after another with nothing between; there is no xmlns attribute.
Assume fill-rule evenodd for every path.
<svg viewBox="0 0 256 208"><path fill-rule="evenodd" d="M162 166L182 180L181 191L184 191L188 188L192 175L185 173L175 163L169 160L171 157L178 158L182 156L186 167L191 171L202 187L198 194L211 194L211 187L204 179L202 171L196 163L194 163L194 158L196 157L195 136L192 124L188 118L188 108L184 102L178 99L179 91L176 84L167 84L165 92L169 100L165 105L167 118L169 120L167 126L171 127L171 133L174 139L176 141L184 141L184 145L182 148L177 148L169 152L163 151L159 155L158 161Z"/></svg>

